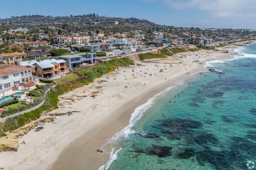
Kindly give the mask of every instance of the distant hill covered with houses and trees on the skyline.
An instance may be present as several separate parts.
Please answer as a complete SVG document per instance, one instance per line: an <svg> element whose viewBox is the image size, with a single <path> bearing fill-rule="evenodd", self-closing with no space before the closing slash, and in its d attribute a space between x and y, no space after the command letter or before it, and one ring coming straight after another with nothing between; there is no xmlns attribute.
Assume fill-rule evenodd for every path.
<svg viewBox="0 0 256 170"><path fill-rule="evenodd" d="M42 26L58 26L62 27L67 24L69 27L82 27L83 29L109 29L112 31L123 29L154 29L161 27L156 23L148 20L138 18L114 18L106 16L98 16L96 14L87 14L80 16L41 16L41 15L28 15L28 16L12 16L12 18L5 18L0 20L0 27L2 28L18 28L18 27L42 27Z"/></svg>

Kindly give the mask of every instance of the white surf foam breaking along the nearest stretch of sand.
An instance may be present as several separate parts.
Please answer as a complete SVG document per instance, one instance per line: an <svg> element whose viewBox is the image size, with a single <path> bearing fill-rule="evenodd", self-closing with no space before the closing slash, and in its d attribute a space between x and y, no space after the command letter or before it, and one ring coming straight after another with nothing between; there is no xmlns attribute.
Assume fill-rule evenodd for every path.
<svg viewBox="0 0 256 170"><path fill-rule="evenodd" d="M141 119L141 117L143 116L143 113L145 113L145 111L152 106L152 104L154 104L154 102L156 101L156 99L158 98L158 96L161 96L162 94L164 94L165 92L168 92L169 90L171 90L171 88L173 88L175 86L169 87L166 90L156 94L155 96L153 96L152 98L150 98L148 100L148 102L146 102L145 104L142 104L141 106L137 107L134 112L131 115L130 121L129 121L129 125L126 126L124 129L122 129L122 131L118 132L115 134L114 137L112 137L111 139L108 139L107 142L102 145L102 147L104 148L106 145L108 144L117 144L117 143L123 143L125 141L125 139L127 139L129 137L130 134L134 134L136 133L135 131L131 131L131 127L133 127L136 123L136 121L138 121L139 119ZM114 152L115 147L113 147L112 152ZM108 162L101 166L99 168L99 170L107 170L110 165L112 164L112 162L114 160L116 160L117 158L117 153L122 150L122 148L118 149L114 154L110 153L110 158L108 160Z"/></svg>

